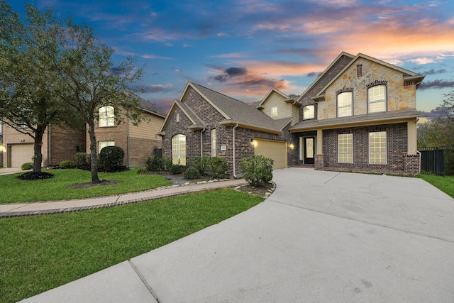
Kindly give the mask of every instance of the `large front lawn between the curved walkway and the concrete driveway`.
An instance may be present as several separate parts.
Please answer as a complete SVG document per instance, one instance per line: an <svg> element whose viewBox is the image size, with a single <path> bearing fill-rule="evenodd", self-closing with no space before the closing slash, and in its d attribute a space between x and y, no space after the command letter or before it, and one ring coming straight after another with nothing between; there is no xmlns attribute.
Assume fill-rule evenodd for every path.
<svg viewBox="0 0 454 303"><path fill-rule="evenodd" d="M0 302L16 302L228 219L261 198L219 189L70 214L0 219Z"/></svg>

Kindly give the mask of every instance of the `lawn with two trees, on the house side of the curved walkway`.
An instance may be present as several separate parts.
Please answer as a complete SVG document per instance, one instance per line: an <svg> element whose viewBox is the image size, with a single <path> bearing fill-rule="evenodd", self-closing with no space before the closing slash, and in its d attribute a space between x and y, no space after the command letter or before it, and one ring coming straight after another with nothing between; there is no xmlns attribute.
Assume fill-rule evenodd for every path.
<svg viewBox="0 0 454 303"><path fill-rule="evenodd" d="M90 172L85 170L43 170L54 177L46 180L19 180L16 176L0 176L0 203L52 201L140 192L171 182L159 175L138 175L137 169L126 172L99 173L100 180L118 181L118 184L85 189L68 189L69 185L92 181Z"/></svg>

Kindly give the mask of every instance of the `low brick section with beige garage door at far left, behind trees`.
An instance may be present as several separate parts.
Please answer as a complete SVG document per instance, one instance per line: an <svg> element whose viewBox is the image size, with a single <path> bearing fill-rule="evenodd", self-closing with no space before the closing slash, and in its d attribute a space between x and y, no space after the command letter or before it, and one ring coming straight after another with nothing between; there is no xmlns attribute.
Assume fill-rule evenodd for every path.
<svg viewBox="0 0 454 303"><path fill-rule="evenodd" d="M11 126L3 126L3 144L6 148L4 167L21 167L33 162L33 138L16 131ZM49 126L43 136L41 153L43 166L58 165L62 160L72 160L74 155L85 150L85 131Z"/></svg>

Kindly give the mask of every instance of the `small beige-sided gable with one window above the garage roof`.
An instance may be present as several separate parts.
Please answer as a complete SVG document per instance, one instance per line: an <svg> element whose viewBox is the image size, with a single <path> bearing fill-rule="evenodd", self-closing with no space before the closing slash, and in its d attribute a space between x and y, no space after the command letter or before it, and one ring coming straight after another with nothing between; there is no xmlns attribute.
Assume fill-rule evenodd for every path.
<svg viewBox="0 0 454 303"><path fill-rule="evenodd" d="M278 89L272 88L257 108L272 119L292 118L292 125L298 123L301 103L296 98L290 98Z"/></svg>

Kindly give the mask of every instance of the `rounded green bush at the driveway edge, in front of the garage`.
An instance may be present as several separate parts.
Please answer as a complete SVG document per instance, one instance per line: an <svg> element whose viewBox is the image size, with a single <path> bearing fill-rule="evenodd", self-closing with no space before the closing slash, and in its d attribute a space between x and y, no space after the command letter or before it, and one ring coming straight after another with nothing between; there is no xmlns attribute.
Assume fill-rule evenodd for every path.
<svg viewBox="0 0 454 303"><path fill-rule="evenodd" d="M271 158L265 158L262 155L252 155L241 161L241 172L243 177L251 186L258 186L272 180Z"/></svg>

